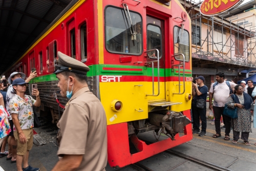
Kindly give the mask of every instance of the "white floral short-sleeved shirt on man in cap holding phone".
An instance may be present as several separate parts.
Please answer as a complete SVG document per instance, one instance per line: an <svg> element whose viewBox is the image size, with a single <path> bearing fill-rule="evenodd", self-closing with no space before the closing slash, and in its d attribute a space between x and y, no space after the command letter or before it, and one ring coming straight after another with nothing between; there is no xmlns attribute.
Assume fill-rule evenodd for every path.
<svg viewBox="0 0 256 171"><path fill-rule="evenodd" d="M35 104L36 100L28 95L25 95L25 98L27 102L15 94L10 100L9 105L10 114L18 114L18 120L22 130L27 130L34 127L34 114L32 106ZM14 125L13 131L16 131Z"/></svg>

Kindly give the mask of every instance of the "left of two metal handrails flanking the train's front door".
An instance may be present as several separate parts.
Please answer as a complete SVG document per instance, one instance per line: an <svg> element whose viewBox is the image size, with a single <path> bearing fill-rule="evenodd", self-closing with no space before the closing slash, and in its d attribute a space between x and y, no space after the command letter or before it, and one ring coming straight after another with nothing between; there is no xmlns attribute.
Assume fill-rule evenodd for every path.
<svg viewBox="0 0 256 171"><path fill-rule="evenodd" d="M158 96L160 94L159 50L158 49L151 49L151 50L145 51L144 53L151 52L151 51L157 51L157 60L153 60L153 61L150 61L150 62L145 62L145 63L152 63L152 82L153 82L152 94L146 94L146 96ZM155 87L154 87L154 63L155 62L157 62L158 94L155 94L155 91L154 91L154 89L155 89Z"/></svg>

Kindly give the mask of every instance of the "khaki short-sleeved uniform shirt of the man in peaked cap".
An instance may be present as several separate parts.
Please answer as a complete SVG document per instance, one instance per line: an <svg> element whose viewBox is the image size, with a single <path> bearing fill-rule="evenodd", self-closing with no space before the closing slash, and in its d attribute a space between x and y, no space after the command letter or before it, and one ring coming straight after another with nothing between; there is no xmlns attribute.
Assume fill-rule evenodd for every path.
<svg viewBox="0 0 256 171"><path fill-rule="evenodd" d="M104 170L107 161L106 116L88 87L76 92L65 106L57 126L58 156L83 155L77 170Z"/></svg>

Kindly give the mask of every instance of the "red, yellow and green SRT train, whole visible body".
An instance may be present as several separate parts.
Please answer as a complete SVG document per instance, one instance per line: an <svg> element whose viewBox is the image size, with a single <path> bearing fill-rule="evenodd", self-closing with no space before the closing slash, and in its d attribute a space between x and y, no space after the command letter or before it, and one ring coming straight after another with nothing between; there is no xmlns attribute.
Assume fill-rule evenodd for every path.
<svg viewBox="0 0 256 171"><path fill-rule="evenodd" d="M193 138L191 20L178 0L72 1L3 73L28 76L35 68L30 85L37 84L41 99L35 113L51 115L53 123L68 101L56 94L58 51L90 68L88 86L106 113L111 167ZM140 137L145 133L151 138Z"/></svg>

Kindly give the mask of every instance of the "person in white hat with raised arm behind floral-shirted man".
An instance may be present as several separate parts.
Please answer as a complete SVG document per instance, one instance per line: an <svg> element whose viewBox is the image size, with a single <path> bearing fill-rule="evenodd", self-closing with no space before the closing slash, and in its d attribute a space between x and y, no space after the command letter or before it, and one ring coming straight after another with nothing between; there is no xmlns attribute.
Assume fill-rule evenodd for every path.
<svg viewBox="0 0 256 171"><path fill-rule="evenodd" d="M31 71L30 76L25 80L25 82L29 82L31 79L35 78L36 76L37 76L36 71L33 72L33 73ZM8 87L7 93L6 93L6 110L9 114L10 114L9 102L14 97L14 95L16 94L16 92L13 90L12 81L14 81L17 78L25 79L26 75L22 72L13 72L10 75L10 77L8 78L8 82L10 83L10 86ZM14 135L13 135L13 121L12 121L11 114L9 116L9 122L10 122L12 131L9 134L9 138L8 138L9 154L8 154L6 160L11 160L11 163L16 163L17 141L15 140Z"/></svg>

